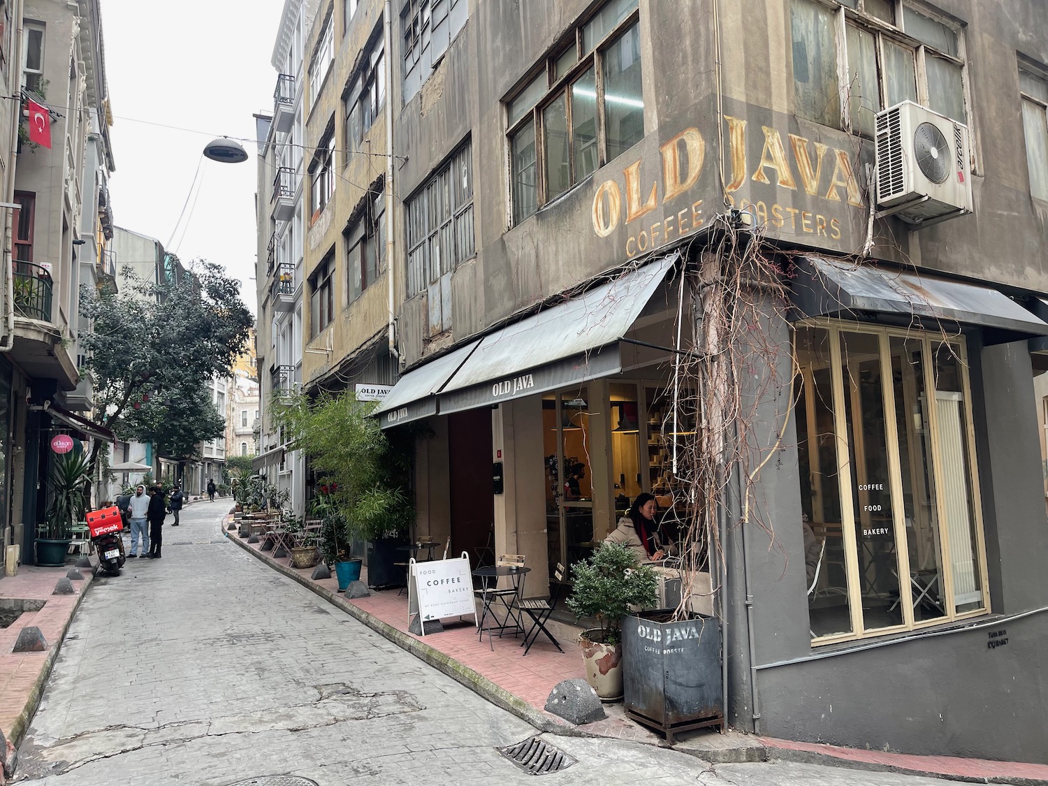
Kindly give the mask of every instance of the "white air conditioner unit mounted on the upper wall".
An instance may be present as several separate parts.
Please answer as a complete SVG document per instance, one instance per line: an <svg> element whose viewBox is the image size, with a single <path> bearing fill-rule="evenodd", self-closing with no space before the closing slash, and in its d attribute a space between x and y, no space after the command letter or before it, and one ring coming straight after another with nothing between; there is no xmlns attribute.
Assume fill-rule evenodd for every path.
<svg viewBox="0 0 1048 786"><path fill-rule="evenodd" d="M971 213L968 129L903 101L877 113L878 217L924 224Z"/></svg>

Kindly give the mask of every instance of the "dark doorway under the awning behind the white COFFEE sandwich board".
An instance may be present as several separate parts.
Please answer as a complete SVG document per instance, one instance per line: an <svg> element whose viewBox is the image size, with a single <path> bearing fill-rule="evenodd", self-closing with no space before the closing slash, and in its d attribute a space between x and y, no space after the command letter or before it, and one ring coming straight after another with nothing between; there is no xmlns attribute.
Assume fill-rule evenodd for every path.
<svg viewBox="0 0 1048 786"><path fill-rule="evenodd" d="M470 554L477 565L489 542L495 522L492 483L492 411L457 412L447 416L447 454L451 470L452 547L449 555ZM490 564L492 552L485 562Z"/></svg>

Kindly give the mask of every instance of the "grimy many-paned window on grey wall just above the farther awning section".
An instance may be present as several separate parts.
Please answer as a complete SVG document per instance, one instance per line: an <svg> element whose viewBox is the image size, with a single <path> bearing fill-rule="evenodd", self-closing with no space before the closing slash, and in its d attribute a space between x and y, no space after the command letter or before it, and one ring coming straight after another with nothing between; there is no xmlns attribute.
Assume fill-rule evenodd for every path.
<svg viewBox="0 0 1048 786"><path fill-rule="evenodd" d="M476 254L472 151L459 148L405 205L409 298Z"/></svg>

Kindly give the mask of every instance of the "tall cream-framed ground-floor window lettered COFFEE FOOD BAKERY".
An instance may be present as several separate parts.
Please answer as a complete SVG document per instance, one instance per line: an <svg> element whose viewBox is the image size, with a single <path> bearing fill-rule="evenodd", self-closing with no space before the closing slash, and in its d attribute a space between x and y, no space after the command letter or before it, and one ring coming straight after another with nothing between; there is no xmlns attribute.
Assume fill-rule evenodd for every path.
<svg viewBox="0 0 1048 786"><path fill-rule="evenodd" d="M986 612L964 345L832 323L793 337L812 638Z"/></svg>

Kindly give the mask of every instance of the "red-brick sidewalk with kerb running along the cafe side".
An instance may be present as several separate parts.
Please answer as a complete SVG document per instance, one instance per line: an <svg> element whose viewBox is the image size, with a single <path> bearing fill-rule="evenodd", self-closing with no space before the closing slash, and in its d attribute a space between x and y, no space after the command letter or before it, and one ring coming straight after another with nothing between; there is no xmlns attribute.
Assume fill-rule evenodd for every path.
<svg viewBox="0 0 1048 786"><path fill-rule="evenodd" d="M261 543L248 544L238 538L236 531L226 530L228 521L227 518L226 524L223 524L223 531L238 546L339 606L397 646L467 685L494 704L528 721L536 728L560 735L611 737L665 746L665 741L660 735L629 720L620 704L605 705L609 717L585 726L572 726L543 709L546 697L558 682L562 679L585 677L582 656L573 640L566 640L554 632L564 649L564 653L560 653L541 636L531 647L527 657L522 657L523 650L519 646L519 639L496 638L493 651L486 637L483 642L478 641L472 618L462 624L445 625L443 633L416 636L408 633L410 620L407 593L398 594L397 590L372 590L370 597L347 599L337 592L337 582L334 577L321 581L310 578L312 568L292 568L290 558L277 560L271 552L261 551ZM362 578L365 581L367 578L366 568ZM754 737L732 730L723 735L716 732L680 735L673 747L713 763L779 759L975 783L1048 786L1048 765L858 750Z"/></svg>

